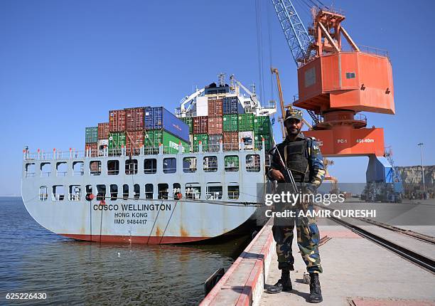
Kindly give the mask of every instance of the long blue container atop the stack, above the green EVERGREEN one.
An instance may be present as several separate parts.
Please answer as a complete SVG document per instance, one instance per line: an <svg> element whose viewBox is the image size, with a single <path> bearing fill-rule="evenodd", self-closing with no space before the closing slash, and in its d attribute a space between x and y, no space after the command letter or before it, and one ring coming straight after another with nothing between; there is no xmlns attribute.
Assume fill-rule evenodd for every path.
<svg viewBox="0 0 435 306"><path fill-rule="evenodd" d="M189 126L178 119L165 107L145 107L145 130L166 130L186 142L189 142Z"/></svg>

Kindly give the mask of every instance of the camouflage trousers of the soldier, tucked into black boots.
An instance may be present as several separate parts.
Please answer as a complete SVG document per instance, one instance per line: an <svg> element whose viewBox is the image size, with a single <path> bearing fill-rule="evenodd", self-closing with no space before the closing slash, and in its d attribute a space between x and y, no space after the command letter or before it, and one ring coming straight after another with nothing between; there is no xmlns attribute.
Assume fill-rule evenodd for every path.
<svg viewBox="0 0 435 306"><path fill-rule="evenodd" d="M312 210L313 207L308 207ZM295 209L296 216L299 213ZM302 259L306 264L308 273L322 273L321 258L318 253L318 242L320 233L318 232L316 219L310 217L285 218L284 220L274 220L272 232L276 241L276 254L278 255L278 268L280 270L294 270L294 257L291 252L293 242L293 229L296 224L296 233L299 250Z"/></svg>

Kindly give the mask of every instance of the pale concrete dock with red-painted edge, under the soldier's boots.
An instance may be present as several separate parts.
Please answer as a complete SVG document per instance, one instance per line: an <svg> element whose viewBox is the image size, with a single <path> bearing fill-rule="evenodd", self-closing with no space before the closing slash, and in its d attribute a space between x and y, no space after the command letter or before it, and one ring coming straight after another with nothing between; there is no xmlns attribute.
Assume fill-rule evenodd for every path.
<svg viewBox="0 0 435 306"><path fill-rule="evenodd" d="M303 281L306 268L298 254L296 232L295 270L291 272L294 289L275 295L266 292L281 275L270 224L262 228L200 305L310 305L306 302L309 285ZM402 245L435 258L434 245L394 237L399 234L377 226L365 229L389 239L400 238L397 240ZM435 275L430 271L343 226L324 225L319 230L326 241L320 246L324 271L320 305L435 305Z"/></svg>

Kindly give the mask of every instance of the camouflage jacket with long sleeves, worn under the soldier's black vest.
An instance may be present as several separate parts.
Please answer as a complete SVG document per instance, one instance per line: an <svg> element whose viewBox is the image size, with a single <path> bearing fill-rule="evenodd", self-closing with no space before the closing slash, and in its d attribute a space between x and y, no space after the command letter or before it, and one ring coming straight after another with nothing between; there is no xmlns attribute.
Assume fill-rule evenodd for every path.
<svg viewBox="0 0 435 306"><path fill-rule="evenodd" d="M308 166L309 166L309 181L308 181L308 189L311 189L312 191L316 190L318 186L322 184L322 181L325 177L325 167L323 165L323 157L321 154L321 150L318 147L318 142L314 137L305 137L304 134L301 132L296 137L296 140L306 139L306 149L305 149L305 157L308 159ZM279 150L279 153L281 154L281 157L284 158L284 147L286 144L290 142L289 138L284 139L284 142L281 142L276 146L276 149ZM269 176L269 179L272 179L272 176L270 176L270 171L272 169L277 169L281 172L284 171L284 167L282 166L278 152L274 152L274 155L272 157L271 162L271 169L269 170L267 176ZM272 179L273 180L273 179Z"/></svg>

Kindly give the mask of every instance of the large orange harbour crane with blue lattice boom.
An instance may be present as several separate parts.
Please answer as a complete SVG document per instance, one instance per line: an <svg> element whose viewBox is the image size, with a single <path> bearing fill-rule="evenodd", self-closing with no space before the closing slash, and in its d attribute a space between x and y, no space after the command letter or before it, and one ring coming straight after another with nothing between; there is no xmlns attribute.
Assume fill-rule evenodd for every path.
<svg viewBox="0 0 435 306"><path fill-rule="evenodd" d="M304 134L318 139L324 157L369 157L367 183L394 183L384 130L367 128L360 113L394 115L388 53L358 46L342 25L342 11L313 7L307 31L290 0L272 0L272 5L298 73L299 95L285 107L308 112L313 125Z"/></svg>

